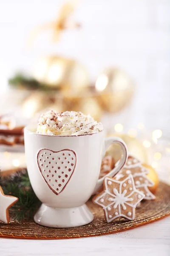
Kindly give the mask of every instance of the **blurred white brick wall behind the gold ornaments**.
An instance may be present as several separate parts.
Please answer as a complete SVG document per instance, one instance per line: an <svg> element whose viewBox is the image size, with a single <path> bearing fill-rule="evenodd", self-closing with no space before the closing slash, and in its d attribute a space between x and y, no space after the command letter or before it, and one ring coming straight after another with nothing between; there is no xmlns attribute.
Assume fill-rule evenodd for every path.
<svg viewBox="0 0 170 256"><path fill-rule="evenodd" d="M108 66L119 66L136 81L130 123L169 129L170 123L170 0L84 0L75 19L79 31L68 31L58 45L45 32L32 50L26 38L37 24L53 20L62 0L0 2L0 82L9 74L32 70L42 54L61 53L80 59L95 80ZM76 47L75 47L76 46ZM4 84L4 85L3 85ZM4 89L5 90L5 89Z"/></svg>

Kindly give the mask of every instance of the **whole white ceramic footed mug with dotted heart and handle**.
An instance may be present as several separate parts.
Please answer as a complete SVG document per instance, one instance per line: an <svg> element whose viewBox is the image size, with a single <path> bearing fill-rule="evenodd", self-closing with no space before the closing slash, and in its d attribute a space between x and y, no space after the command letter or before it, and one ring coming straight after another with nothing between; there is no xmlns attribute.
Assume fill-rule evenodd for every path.
<svg viewBox="0 0 170 256"><path fill-rule="evenodd" d="M28 175L42 202L34 221L47 227L77 227L93 221L86 206L101 186L102 157L112 143L122 147L122 158L107 176L113 177L127 160L127 147L117 137L104 132L79 136L49 136L24 129Z"/></svg>

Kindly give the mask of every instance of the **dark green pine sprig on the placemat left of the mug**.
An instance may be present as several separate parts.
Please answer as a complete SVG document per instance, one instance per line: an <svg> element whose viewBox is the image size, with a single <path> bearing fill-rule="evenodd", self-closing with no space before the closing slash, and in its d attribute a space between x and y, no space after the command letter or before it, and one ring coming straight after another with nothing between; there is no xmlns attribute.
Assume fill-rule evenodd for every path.
<svg viewBox="0 0 170 256"><path fill-rule="evenodd" d="M10 210L14 219L20 221L24 218L32 218L40 206L40 201L31 187L28 173L19 172L6 178L0 177L0 184L5 195L18 198L17 203Z"/></svg>

